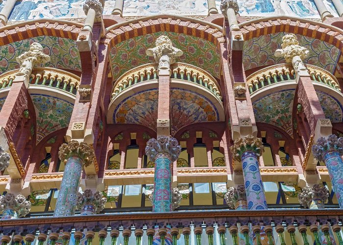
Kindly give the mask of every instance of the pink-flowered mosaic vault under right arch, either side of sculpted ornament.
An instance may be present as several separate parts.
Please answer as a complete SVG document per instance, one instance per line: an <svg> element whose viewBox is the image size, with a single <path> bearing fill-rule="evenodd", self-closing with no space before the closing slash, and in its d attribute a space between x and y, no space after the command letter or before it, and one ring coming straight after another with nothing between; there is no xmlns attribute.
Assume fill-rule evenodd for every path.
<svg viewBox="0 0 343 245"><path fill-rule="evenodd" d="M259 66L271 66L285 63L284 58L274 56L275 50L280 49L282 37L285 34L287 33L279 32L276 34L268 34L244 42L243 65L245 70ZM319 39L301 35L296 36L300 46L306 47L310 51L305 62L333 73L338 62L340 50Z"/></svg>

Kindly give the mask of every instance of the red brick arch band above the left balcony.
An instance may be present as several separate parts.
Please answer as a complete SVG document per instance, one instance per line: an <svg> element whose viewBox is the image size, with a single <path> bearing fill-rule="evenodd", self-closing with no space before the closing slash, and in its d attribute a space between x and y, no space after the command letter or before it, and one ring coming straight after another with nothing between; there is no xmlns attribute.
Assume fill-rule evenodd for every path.
<svg viewBox="0 0 343 245"><path fill-rule="evenodd" d="M39 19L0 28L0 46L38 36L76 40L83 25L63 20Z"/></svg>

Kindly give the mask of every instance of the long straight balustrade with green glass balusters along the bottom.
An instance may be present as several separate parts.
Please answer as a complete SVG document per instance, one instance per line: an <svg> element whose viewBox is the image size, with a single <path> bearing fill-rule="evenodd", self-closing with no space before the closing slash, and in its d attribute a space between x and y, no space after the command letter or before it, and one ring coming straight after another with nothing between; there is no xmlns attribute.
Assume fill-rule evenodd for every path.
<svg viewBox="0 0 343 245"><path fill-rule="evenodd" d="M263 214L258 210L132 212L1 220L0 232L3 234L1 245L12 244L10 236L14 244L21 244L24 237L26 244L31 244L35 238L38 244L43 244L47 235L51 244L62 241L69 244L71 239L79 244L84 236L82 233L87 244L93 242L100 245L128 245L134 242L152 245L155 233L172 245L201 245L201 242L237 245L239 240L249 244L252 236L256 244L262 244L261 240L268 240L269 244L279 240L283 245L309 242L331 244L331 239L342 244L342 219L342 211L332 209L275 209L264 210ZM179 236L181 233L184 236Z"/></svg>

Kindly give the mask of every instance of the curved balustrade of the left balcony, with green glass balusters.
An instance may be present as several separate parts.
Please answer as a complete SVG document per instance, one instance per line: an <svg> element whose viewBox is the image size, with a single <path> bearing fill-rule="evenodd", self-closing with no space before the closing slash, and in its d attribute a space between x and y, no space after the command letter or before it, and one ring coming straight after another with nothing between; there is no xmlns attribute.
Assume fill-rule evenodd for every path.
<svg viewBox="0 0 343 245"><path fill-rule="evenodd" d="M18 69L0 75L0 89L10 87ZM49 67L34 68L30 75L30 85L45 85L76 95L80 77L59 69Z"/></svg>

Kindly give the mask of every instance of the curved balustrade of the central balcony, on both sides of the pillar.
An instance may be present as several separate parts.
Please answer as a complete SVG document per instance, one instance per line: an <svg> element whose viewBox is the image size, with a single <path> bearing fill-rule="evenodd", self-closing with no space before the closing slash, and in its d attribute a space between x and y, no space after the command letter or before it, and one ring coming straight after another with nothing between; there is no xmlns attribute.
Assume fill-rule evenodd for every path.
<svg viewBox="0 0 343 245"><path fill-rule="evenodd" d="M181 79L189 82L193 82L199 86L202 86L213 93L216 97L221 99L221 91L217 80L209 73L184 63L174 63L171 65L171 78ZM157 79L157 65L154 63L142 65L134 68L122 76L120 76L115 82L112 89L112 99L116 98L123 90L130 86L152 79Z"/></svg>

